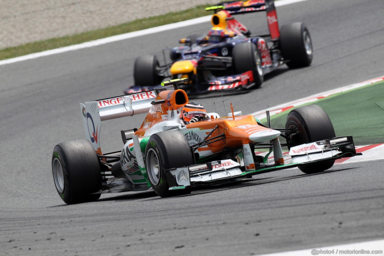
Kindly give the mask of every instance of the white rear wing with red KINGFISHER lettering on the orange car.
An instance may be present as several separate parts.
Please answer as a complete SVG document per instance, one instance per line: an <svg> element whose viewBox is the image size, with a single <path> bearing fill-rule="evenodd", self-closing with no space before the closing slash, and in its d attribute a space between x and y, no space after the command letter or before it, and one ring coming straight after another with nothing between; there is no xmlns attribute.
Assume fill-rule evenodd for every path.
<svg viewBox="0 0 384 256"><path fill-rule="evenodd" d="M101 121L147 113L156 96L157 91L152 90L80 103L85 138L92 143L96 153L102 155L99 140Z"/></svg>

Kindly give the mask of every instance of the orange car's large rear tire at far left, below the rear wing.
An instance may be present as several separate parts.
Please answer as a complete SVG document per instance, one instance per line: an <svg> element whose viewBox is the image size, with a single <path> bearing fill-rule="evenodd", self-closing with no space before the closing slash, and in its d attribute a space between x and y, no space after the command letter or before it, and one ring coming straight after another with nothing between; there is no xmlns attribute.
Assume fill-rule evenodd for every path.
<svg viewBox="0 0 384 256"><path fill-rule="evenodd" d="M88 140L70 140L55 146L52 174L56 190L66 204L100 198L92 194L101 189L99 158Z"/></svg>

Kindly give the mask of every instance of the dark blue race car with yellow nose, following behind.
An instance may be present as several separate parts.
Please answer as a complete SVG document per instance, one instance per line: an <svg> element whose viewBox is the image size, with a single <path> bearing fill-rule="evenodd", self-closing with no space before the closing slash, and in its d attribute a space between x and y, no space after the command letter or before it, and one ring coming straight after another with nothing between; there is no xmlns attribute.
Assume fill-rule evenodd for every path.
<svg viewBox="0 0 384 256"><path fill-rule="evenodd" d="M248 0L219 3L215 7L212 29L204 37L190 35L181 39L180 47L163 50L164 62L144 55L134 63L134 86L124 93L152 90L164 79L188 78L180 85L188 94L217 90L258 88L263 76L279 66L309 66L312 62L310 33L301 22L287 24L279 30L273 0ZM250 35L250 31L232 15L263 12L269 35Z"/></svg>

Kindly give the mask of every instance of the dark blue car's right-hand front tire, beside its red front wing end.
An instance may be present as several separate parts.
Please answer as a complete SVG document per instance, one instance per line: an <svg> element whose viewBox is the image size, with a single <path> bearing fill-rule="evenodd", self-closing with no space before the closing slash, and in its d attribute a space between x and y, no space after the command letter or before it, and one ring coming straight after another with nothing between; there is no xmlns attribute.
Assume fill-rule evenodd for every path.
<svg viewBox="0 0 384 256"><path fill-rule="evenodd" d="M240 43L232 50L233 66L236 74L252 70L254 88L259 88L263 81L263 68L260 52L253 43Z"/></svg>

